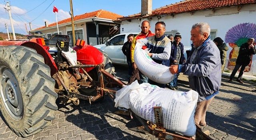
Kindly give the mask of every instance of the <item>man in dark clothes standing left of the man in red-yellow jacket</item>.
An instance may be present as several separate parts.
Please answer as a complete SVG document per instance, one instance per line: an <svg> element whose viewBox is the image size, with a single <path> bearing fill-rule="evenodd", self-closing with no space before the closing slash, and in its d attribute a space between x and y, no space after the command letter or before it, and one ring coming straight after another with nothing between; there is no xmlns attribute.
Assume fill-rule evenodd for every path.
<svg viewBox="0 0 256 140"><path fill-rule="evenodd" d="M125 42L124 46L122 47L122 52L126 56L126 60L127 60L127 64L128 64L128 74L129 74L129 76L132 75L131 45L132 45L133 38L134 38L134 35L129 34L127 36L127 42Z"/></svg>

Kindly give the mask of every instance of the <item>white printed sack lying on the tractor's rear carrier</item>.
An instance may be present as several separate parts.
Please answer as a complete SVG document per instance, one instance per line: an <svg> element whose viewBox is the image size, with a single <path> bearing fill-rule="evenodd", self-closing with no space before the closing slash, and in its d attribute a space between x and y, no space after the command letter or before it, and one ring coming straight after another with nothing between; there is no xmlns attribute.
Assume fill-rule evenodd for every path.
<svg viewBox="0 0 256 140"><path fill-rule="evenodd" d="M132 112L156 124L154 106L161 106L164 128L186 136L196 134L194 113L198 93L174 91L137 81L116 92L115 107L131 109Z"/></svg>

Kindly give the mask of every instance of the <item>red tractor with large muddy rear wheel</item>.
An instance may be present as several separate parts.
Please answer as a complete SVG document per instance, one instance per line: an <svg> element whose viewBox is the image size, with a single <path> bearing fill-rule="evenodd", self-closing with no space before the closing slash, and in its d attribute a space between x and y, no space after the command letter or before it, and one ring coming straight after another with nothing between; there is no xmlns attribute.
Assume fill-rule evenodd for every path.
<svg viewBox="0 0 256 140"><path fill-rule="evenodd" d="M18 136L48 126L58 109L56 98L64 104L94 102L113 97L110 88L124 85L113 76L110 58L83 40L69 48L66 35L28 39L0 42L0 110Z"/></svg>

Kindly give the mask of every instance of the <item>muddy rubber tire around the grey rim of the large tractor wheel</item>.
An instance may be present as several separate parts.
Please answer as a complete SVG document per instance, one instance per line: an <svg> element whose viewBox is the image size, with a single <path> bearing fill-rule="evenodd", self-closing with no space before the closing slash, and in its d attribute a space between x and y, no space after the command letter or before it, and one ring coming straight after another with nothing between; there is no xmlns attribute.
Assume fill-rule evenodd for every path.
<svg viewBox="0 0 256 140"><path fill-rule="evenodd" d="M24 104L20 120L12 119L0 103L2 115L18 136L36 134L51 124L58 109L50 67L34 49L24 46L2 46L0 54L0 65L1 62L6 64L18 80Z"/></svg>

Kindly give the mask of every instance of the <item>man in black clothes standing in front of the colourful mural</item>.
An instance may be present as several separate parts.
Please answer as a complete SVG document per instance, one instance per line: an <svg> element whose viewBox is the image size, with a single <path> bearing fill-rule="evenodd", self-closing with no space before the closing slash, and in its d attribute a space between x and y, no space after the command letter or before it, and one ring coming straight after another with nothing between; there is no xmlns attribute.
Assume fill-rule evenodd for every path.
<svg viewBox="0 0 256 140"><path fill-rule="evenodd" d="M230 79L228 82L232 82L234 76L236 75L237 70L241 67L238 78L236 82L244 83L241 81L241 78L244 74L245 67L250 64L252 54L256 54L256 50L254 48L254 38L249 38L248 41L241 45L239 49L239 54L236 59L236 66L230 75Z"/></svg>

